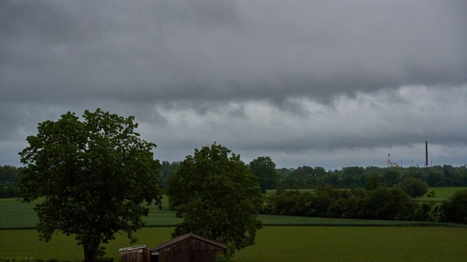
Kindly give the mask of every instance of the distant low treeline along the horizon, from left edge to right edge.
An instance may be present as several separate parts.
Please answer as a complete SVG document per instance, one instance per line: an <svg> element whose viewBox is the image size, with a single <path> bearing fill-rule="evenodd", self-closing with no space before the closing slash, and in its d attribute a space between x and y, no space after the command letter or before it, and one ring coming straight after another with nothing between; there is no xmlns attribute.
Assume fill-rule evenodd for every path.
<svg viewBox="0 0 467 262"><path fill-rule="evenodd" d="M168 178L178 170L180 161L162 161L160 188L166 188ZM0 198L18 197L16 177L21 168L0 166ZM277 176L267 189L306 189L331 186L333 188L365 188L370 183L381 181L391 187L401 183L407 177L418 178L430 187L467 186L467 169L464 166L450 165L420 167L381 168L369 166L345 167L341 170L328 170L323 167L299 166L296 169L276 169Z"/></svg>

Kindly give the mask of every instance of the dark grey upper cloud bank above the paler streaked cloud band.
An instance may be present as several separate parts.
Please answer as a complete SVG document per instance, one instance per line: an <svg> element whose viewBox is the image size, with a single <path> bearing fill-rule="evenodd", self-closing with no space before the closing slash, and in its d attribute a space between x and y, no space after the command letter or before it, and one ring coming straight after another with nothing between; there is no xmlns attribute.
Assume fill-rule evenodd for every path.
<svg viewBox="0 0 467 262"><path fill-rule="evenodd" d="M50 92L280 101L456 85L467 78L467 23L456 5L10 1L3 4L2 79L17 90L10 98L32 93L45 101Z"/></svg>

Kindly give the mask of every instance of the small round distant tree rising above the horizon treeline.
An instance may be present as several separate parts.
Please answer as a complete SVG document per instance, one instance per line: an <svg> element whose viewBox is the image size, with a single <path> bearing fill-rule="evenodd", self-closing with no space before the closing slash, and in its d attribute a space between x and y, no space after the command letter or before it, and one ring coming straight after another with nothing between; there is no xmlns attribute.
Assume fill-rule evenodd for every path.
<svg viewBox="0 0 467 262"><path fill-rule="evenodd" d="M269 156L260 156L253 159L248 168L253 175L258 177L262 193L266 193L267 189L277 188L279 173L276 171L276 164Z"/></svg>

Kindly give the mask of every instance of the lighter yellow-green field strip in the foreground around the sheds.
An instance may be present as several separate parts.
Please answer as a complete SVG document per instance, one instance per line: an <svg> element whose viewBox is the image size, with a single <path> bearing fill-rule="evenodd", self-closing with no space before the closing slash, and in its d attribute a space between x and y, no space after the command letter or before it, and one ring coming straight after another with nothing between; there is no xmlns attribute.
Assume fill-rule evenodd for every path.
<svg viewBox="0 0 467 262"><path fill-rule="evenodd" d="M118 236L107 257L119 261L118 249L156 247L171 238L172 227L143 228L139 241ZM238 251L233 261L465 261L467 229L454 227L264 227L255 246ZM81 261L73 237L57 234L38 241L35 230L0 230L0 258Z"/></svg>

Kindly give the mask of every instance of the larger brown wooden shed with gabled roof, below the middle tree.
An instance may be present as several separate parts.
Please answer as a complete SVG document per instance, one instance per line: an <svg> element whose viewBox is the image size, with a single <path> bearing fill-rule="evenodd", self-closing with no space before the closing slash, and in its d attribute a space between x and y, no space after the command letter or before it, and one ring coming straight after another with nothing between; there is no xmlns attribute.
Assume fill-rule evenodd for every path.
<svg viewBox="0 0 467 262"><path fill-rule="evenodd" d="M214 262L227 246L212 239L189 233L175 237L156 247L160 262Z"/></svg>

